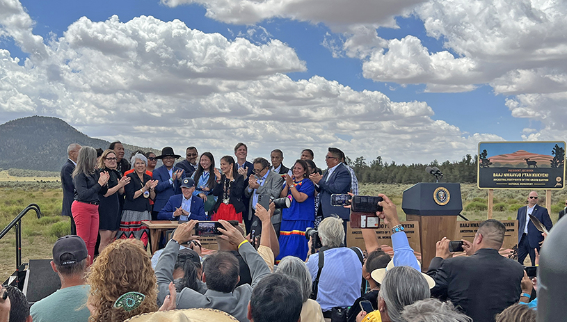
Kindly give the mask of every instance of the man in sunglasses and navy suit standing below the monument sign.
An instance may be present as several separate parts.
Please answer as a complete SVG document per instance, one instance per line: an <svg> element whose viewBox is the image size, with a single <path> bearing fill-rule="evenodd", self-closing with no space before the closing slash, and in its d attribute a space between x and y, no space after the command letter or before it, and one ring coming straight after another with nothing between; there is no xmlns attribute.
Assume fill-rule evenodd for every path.
<svg viewBox="0 0 567 322"><path fill-rule="evenodd" d="M548 209L538 206L538 193L532 191L528 195L527 206L518 209L518 261L524 264L524 259L529 254L529 259L532 260L532 266L536 265L536 252L539 252L540 243L543 241L541 232L537 230L536 226L529 220L528 215L532 215L547 228L551 230L553 224L548 213Z"/></svg>

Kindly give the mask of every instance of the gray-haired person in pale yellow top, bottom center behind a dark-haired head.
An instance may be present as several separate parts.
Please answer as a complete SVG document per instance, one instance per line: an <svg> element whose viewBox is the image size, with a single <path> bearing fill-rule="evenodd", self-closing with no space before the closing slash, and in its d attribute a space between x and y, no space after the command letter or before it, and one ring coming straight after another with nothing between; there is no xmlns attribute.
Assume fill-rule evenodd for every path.
<svg viewBox="0 0 567 322"><path fill-rule="evenodd" d="M321 305L309 298L311 295L312 279L305 263L298 257L286 256L282 258L280 264L278 264L276 273L293 277L299 282L303 300L301 321L324 322L325 319L323 317L323 311L321 311Z"/></svg>

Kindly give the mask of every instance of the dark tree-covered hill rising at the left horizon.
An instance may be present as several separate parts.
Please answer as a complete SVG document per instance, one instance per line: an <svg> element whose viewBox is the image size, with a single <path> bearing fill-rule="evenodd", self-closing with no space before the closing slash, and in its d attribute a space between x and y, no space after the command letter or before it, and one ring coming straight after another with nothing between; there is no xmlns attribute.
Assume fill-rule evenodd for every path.
<svg viewBox="0 0 567 322"><path fill-rule="evenodd" d="M30 116L0 125L0 168L59 171L67 159L67 145L79 143L106 149L110 142L90 138L59 118ZM124 143L125 156L132 151L159 150Z"/></svg>

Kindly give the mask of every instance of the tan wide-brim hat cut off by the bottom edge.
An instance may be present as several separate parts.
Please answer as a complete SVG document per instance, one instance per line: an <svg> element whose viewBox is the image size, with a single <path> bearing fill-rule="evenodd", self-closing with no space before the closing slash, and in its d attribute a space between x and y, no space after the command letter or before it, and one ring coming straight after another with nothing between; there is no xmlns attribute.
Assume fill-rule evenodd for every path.
<svg viewBox="0 0 567 322"><path fill-rule="evenodd" d="M172 309L132 316L124 322L233 322L234 316L218 309Z"/></svg>

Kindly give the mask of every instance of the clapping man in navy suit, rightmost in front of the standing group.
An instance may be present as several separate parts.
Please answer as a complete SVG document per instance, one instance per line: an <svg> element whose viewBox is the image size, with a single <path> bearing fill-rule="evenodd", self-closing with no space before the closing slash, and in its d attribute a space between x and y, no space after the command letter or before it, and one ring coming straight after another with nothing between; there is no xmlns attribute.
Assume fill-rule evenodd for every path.
<svg viewBox="0 0 567 322"><path fill-rule="evenodd" d="M319 191L321 196L319 198L319 212L322 211L324 218L333 214L342 218L346 236L346 222L351 218L351 210L344 207L334 207L330 204L330 195L351 191L351 172L341 162L342 155L341 150L336 147L329 147L325 156L327 170L323 175L313 173L309 178L315 184L315 189Z"/></svg>

